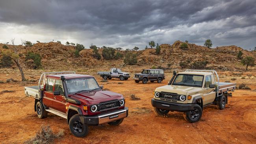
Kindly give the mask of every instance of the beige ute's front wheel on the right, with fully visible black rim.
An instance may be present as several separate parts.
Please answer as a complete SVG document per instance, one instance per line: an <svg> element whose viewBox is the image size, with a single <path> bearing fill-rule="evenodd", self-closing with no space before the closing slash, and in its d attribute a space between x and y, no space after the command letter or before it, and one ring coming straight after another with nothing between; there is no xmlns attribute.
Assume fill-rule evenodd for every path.
<svg viewBox="0 0 256 144"><path fill-rule="evenodd" d="M183 116L187 122L198 122L202 117L202 108L200 107L200 105L195 104L194 108L191 111L184 112Z"/></svg>

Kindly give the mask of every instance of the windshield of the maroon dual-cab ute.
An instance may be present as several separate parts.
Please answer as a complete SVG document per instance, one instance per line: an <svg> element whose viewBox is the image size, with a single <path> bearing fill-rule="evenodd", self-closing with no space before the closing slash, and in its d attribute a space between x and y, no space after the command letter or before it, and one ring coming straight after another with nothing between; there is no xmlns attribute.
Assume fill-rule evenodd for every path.
<svg viewBox="0 0 256 144"><path fill-rule="evenodd" d="M93 89L100 89L95 78L79 78L79 79L67 79L67 91L68 93L75 93L79 91L89 91Z"/></svg>

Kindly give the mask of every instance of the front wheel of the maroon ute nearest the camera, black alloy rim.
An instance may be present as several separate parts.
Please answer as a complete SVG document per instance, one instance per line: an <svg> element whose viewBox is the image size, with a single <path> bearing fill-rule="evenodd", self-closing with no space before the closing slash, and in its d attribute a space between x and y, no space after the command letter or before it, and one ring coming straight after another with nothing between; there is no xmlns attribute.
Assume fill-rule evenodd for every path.
<svg viewBox="0 0 256 144"><path fill-rule="evenodd" d="M69 129L76 137L85 137L89 132L88 126L80 121L79 114L75 114L70 118Z"/></svg>

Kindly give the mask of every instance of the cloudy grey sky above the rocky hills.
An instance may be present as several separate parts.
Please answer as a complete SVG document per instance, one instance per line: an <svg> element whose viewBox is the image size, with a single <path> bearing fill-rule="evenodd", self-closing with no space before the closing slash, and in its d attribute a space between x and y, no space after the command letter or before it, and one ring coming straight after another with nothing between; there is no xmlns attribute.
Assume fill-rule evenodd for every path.
<svg viewBox="0 0 256 144"><path fill-rule="evenodd" d="M256 0L1 0L0 42L144 49L149 41L256 47Z"/></svg>

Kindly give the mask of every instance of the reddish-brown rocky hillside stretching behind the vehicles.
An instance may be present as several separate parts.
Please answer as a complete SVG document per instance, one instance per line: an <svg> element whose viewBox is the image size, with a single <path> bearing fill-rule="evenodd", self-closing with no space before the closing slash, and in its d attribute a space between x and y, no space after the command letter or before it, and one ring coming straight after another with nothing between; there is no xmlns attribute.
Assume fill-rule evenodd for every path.
<svg viewBox="0 0 256 144"><path fill-rule="evenodd" d="M194 61L207 60L208 67L211 69L223 69L223 70L235 70L243 69L237 54L241 50L243 57L252 56L256 57L255 52L249 52L243 50L237 46L221 46L217 48L206 48L204 46L198 46L196 44L188 44L187 50L181 47L182 41L176 41L172 45L161 44L161 52L159 55L155 54L154 48L148 48L146 50L131 51L137 54L137 65L143 66L143 68L151 68L152 66L163 68L179 68L180 61L189 60L190 63ZM4 44L0 44L0 50ZM11 45L7 45L11 47ZM26 61L25 55L28 52L33 52L41 55L41 63L44 69L58 68L78 68L78 67L121 67L124 65L123 59L118 60L97 60L93 57L93 50L84 49L80 51L80 57L74 57L74 46L65 46L57 42L37 43L31 47L17 46L19 49L20 61L22 67L31 68L32 61ZM116 51L117 52L117 51ZM128 51L119 51L122 54L126 54ZM102 48L99 49L99 53L102 54ZM167 66L169 64L169 66ZM171 66L170 66L171 65ZM16 66L13 66L16 68Z"/></svg>

